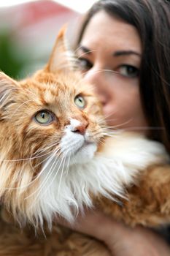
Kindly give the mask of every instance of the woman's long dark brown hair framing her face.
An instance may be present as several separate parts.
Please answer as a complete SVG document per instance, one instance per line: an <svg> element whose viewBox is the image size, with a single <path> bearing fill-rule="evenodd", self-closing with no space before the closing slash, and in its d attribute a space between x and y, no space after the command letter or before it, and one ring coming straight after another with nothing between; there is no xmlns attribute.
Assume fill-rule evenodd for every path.
<svg viewBox="0 0 170 256"><path fill-rule="evenodd" d="M140 94L150 137L170 152L170 3L166 0L99 0L85 16L77 45L97 12L135 26L142 41ZM108 24L109 26L109 24Z"/></svg>

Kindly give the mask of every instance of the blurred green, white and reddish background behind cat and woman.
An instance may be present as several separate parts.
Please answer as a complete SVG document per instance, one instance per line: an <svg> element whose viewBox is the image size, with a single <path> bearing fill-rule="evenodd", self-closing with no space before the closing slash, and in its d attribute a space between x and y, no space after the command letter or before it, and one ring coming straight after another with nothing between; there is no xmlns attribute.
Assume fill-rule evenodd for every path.
<svg viewBox="0 0 170 256"><path fill-rule="evenodd" d="M21 79L45 65L59 29L72 41L82 14L96 0L0 1L0 70Z"/></svg>

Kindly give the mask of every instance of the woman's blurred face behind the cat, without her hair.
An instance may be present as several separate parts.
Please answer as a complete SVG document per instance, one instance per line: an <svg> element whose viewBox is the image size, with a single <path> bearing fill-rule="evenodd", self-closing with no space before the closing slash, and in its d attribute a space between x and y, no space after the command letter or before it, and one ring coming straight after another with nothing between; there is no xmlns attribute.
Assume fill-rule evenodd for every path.
<svg viewBox="0 0 170 256"><path fill-rule="evenodd" d="M78 56L84 78L95 86L110 126L144 132L148 125L139 94L141 54L134 26L104 11L91 18Z"/></svg>

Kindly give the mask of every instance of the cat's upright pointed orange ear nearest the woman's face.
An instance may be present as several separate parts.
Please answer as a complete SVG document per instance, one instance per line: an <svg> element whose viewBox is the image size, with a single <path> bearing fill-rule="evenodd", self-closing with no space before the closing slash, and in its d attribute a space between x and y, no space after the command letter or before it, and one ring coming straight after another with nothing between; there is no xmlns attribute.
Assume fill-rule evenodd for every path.
<svg viewBox="0 0 170 256"><path fill-rule="evenodd" d="M58 33L50 60L45 69L48 72L67 72L74 68L74 57L66 42L66 26Z"/></svg>

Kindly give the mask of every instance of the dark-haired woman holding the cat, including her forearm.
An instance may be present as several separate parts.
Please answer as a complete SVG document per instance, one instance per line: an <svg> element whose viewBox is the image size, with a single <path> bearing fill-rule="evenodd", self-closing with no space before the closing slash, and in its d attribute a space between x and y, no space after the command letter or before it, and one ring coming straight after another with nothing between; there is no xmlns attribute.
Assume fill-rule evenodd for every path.
<svg viewBox="0 0 170 256"><path fill-rule="evenodd" d="M170 153L169 32L166 0L101 0L85 16L77 56L107 123L144 132ZM152 230L131 229L98 212L80 218L74 228L104 241L116 256L170 255Z"/></svg>

